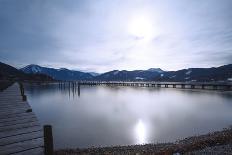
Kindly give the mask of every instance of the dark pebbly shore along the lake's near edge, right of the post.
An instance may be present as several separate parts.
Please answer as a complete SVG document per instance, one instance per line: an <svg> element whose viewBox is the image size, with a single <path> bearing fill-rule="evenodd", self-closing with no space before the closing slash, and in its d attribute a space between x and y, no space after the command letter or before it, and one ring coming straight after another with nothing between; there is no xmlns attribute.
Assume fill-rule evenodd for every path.
<svg viewBox="0 0 232 155"><path fill-rule="evenodd" d="M55 155L88 155L88 154L191 154L191 152L201 151L207 148L219 148L220 151L224 146L232 150L232 128L226 128L204 135L187 137L174 143L157 143L144 145L128 145L128 146L109 146L109 147L91 147L76 149L60 149L55 151ZM217 150L215 151L217 152ZM210 152L209 152L210 153Z"/></svg>

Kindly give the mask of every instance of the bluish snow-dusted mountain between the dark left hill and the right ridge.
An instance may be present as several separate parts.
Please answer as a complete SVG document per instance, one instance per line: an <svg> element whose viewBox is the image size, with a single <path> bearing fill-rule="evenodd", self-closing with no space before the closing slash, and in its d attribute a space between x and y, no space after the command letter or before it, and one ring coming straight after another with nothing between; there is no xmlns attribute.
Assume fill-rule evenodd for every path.
<svg viewBox="0 0 232 155"><path fill-rule="evenodd" d="M30 74L38 74L38 73L46 74L56 80L91 80L94 77L90 73L84 73L81 71L74 71L66 68L60 68L60 69L47 68L33 64L21 68L20 70L23 71L24 73L30 73Z"/></svg>

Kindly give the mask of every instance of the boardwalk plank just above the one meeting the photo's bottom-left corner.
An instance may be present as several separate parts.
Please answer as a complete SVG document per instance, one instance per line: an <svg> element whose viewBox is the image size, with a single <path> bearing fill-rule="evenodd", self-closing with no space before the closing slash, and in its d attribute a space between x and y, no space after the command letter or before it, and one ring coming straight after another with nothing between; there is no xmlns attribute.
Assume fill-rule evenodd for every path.
<svg viewBox="0 0 232 155"><path fill-rule="evenodd" d="M10 145L10 144L13 144L13 143L33 140L33 139L37 139L37 138L43 138L43 132L42 131L29 132L29 133L25 133L25 134L20 134L20 135L15 135L15 136L11 136L11 137L1 138L0 139L0 146Z"/></svg>

